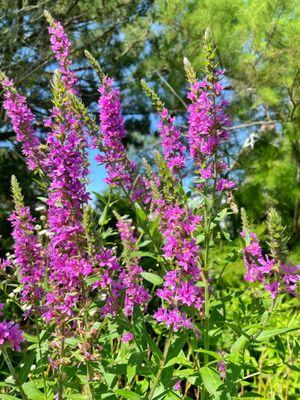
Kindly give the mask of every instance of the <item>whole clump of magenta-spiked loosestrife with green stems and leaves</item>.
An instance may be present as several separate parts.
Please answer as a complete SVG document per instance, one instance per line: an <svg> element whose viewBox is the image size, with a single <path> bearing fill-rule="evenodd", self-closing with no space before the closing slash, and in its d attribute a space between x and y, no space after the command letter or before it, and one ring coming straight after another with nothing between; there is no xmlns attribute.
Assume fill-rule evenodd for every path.
<svg viewBox="0 0 300 400"><path fill-rule="evenodd" d="M287 261L287 238L275 210L268 214L270 255L242 211L245 246L239 252L231 244L222 260L216 257L218 246L231 241L222 221L238 208L222 150L230 126L224 72L209 31L205 77L199 80L184 60L187 131L142 82L160 119L161 152L153 165L145 162L141 175L123 144L116 83L86 52L100 80L98 127L80 98L71 43L60 22L48 13L46 18L58 70L45 139L35 131L27 100L0 75L4 108L28 167L45 188L44 212L33 217L12 177L14 251L1 261L1 290L8 305L13 299L22 321L6 320L1 304L0 351L12 380L5 380L0 397L237 398L245 393L247 374L252 377L247 371L255 368L247 364L247 347L296 328L267 325L285 296L297 295L299 266ZM90 147L98 149L96 160L109 184L101 215L88 204ZM191 174L187 190L184 178ZM126 199L130 216L116 211L112 193ZM244 315L236 321L231 310L237 300L222 278L239 254L245 281L257 285L253 301L259 307L253 311L240 293ZM250 287L245 291L252 296ZM18 368L13 351L23 354Z"/></svg>

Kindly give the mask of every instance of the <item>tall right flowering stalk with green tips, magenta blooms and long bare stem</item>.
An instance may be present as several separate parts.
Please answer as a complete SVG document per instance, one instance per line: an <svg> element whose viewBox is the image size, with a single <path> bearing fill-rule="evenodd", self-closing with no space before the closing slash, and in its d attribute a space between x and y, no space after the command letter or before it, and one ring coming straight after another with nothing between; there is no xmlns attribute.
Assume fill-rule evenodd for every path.
<svg viewBox="0 0 300 400"><path fill-rule="evenodd" d="M204 37L204 58L206 63L206 78L202 81L196 79L196 74L185 59L185 70L190 83L188 98L191 103L188 107L189 130L188 142L190 154L199 176L197 187L211 196L211 201L204 201L204 233L205 253L203 270L201 271L204 283L205 303L205 328L204 328L204 366L209 362L209 328L210 328L210 292L209 292L209 255L211 240L213 238L212 222L217 207L217 195L223 191L231 191L235 184L228 179L220 177L227 166L220 161L220 145L228 139L230 120L225 112L227 102L221 97L223 86L220 83L222 71L218 69L215 57L215 47L210 39L209 31ZM204 399L209 394L205 387L202 389Z"/></svg>

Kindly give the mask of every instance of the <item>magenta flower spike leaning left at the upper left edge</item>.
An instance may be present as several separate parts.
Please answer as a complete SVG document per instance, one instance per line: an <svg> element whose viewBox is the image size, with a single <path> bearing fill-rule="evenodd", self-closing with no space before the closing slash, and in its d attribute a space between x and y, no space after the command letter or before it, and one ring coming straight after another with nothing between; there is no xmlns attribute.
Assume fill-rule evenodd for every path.
<svg viewBox="0 0 300 400"><path fill-rule="evenodd" d="M26 98L16 92L12 80L4 77L2 86L5 97L3 107L11 119L17 141L22 143L28 168L34 170L42 165L43 154L39 148L40 140L33 129L33 113L27 105Z"/></svg>

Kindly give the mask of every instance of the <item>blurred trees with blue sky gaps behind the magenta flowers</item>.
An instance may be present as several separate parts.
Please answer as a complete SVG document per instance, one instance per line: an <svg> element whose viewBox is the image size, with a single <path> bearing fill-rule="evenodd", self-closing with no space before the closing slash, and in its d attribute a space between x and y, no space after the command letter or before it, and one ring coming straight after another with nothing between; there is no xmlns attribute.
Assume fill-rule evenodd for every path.
<svg viewBox="0 0 300 400"><path fill-rule="evenodd" d="M26 94L37 115L36 129L50 107L49 79L55 68L43 10L64 23L73 41L81 94L96 115L97 80L88 48L120 86L131 153L158 145L153 109L140 87L145 78L185 126L187 89L183 57L202 76L202 37L210 27L231 102L232 139L225 154L239 182L236 200L256 224L266 209L282 214L296 249L300 234L300 3L298 0L2 0L1 68ZM19 148L3 109L1 120L1 232L7 237L11 209L10 167L28 184ZM237 233L238 223L232 221ZM7 250L6 241L2 248ZM7 248L6 248L7 247Z"/></svg>

